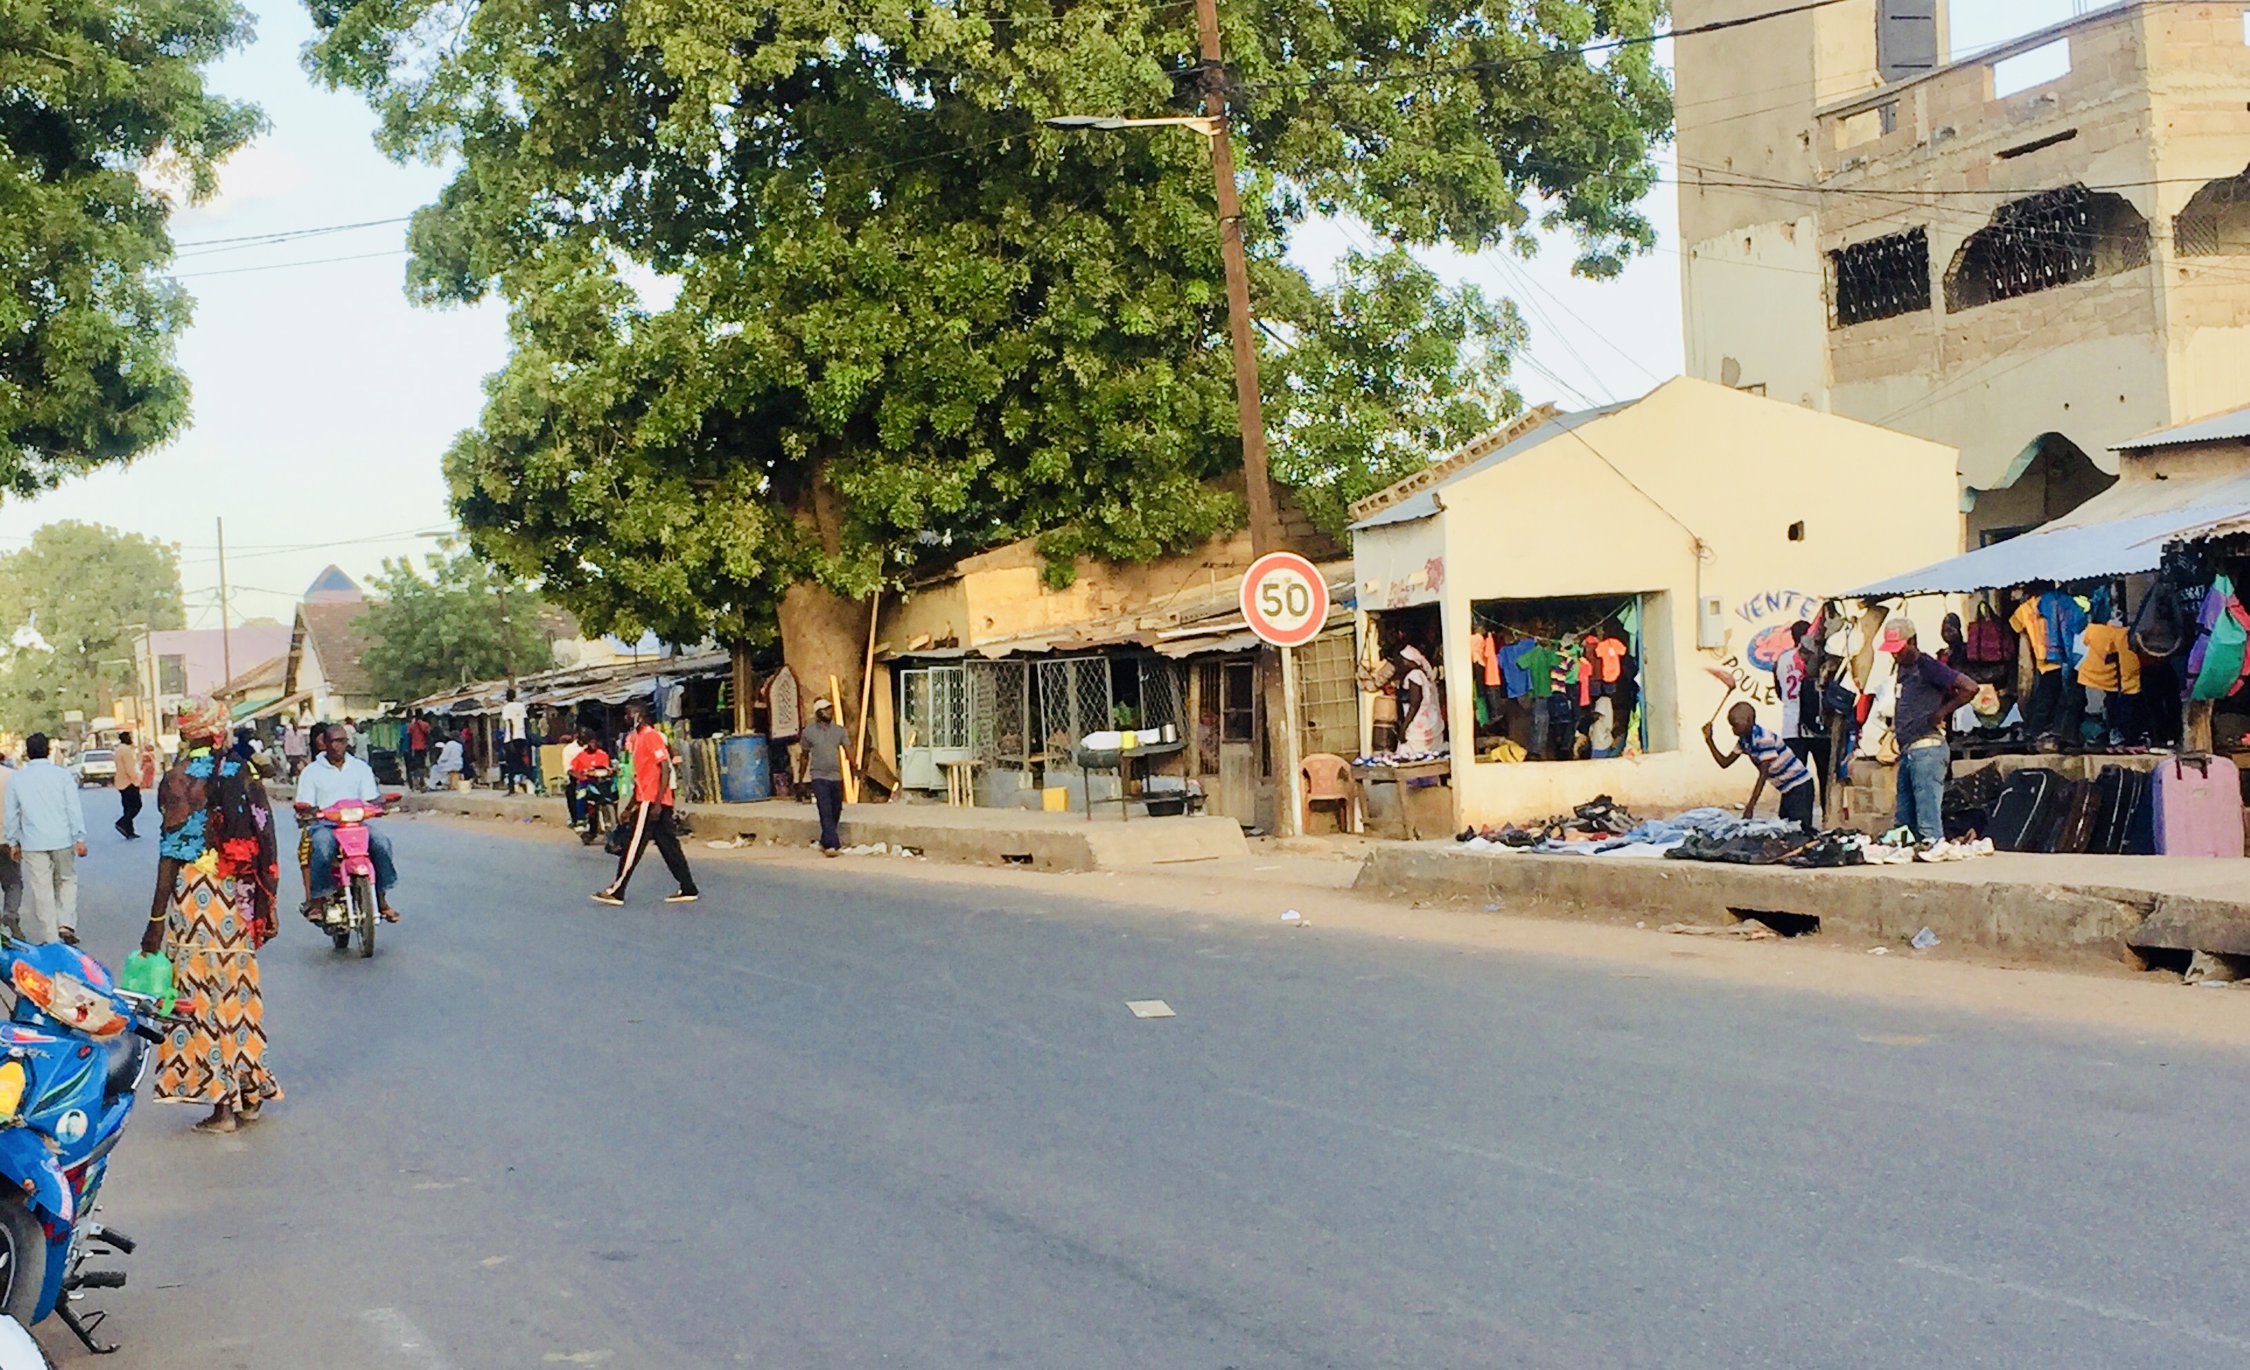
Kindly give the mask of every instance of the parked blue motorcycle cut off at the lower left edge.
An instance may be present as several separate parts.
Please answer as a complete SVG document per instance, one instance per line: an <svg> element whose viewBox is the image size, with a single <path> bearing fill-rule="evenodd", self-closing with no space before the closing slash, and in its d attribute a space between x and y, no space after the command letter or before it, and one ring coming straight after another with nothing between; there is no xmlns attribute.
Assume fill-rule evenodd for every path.
<svg viewBox="0 0 2250 1370"><path fill-rule="evenodd" d="M94 1222L110 1150L162 1042L166 1015L146 994L119 990L110 972L63 943L0 945L16 1008L0 1024L0 1314L22 1325L54 1314L86 1350L104 1314L81 1316L83 1289L119 1289L124 1271L83 1269L92 1255L128 1255L133 1240Z"/></svg>

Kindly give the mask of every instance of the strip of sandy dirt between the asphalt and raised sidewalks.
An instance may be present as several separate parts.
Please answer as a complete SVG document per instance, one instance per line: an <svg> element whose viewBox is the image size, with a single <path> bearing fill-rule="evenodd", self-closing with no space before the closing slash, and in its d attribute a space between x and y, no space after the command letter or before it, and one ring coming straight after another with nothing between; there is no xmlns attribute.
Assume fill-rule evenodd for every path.
<svg viewBox="0 0 2250 1370"><path fill-rule="evenodd" d="M522 841L576 841L547 823L414 814L416 823L506 830ZM1683 976L1768 990L1942 1006L2045 1026L2113 1033L2131 1039L2171 1037L2207 1046L2250 1048L2250 981L2182 985L2176 974L2135 972L2122 963L2018 965L1962 947L1915 952L1904 943L1847 943L1829 936L1732 940L1663 934L1663 909L1620 909L1613 922L1539 918L1467 898L1408 902L1359 893L1359 857L1350 844L1253 839L1249 857L1184 862L1148 871L1044 873L1022 866L956 866L898 855L821 859L812 848L713 848L686 841L691 862L749 862L819 868L837 880L884 880L940 886L1008 889L1062 900L1132 904L1156 913L1280 922L1296 909L1303 936L1413 938L1458 947L1465 956L1550 956L1606 965L1613 976Z"/></svg>

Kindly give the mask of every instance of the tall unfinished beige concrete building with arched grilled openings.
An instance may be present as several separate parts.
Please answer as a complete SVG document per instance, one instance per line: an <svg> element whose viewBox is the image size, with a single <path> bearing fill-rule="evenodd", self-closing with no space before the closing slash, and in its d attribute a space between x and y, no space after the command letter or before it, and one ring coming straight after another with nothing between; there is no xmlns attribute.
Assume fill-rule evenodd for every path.
<svg viewBox="0 0 2250 1370"><path fill-rule="evenodd" d="M1678 38L1681 290L1690 376L1960 448L1978 547L2250 400L2250 20L2117 4L1962 61L1944 20Z"/></svg>

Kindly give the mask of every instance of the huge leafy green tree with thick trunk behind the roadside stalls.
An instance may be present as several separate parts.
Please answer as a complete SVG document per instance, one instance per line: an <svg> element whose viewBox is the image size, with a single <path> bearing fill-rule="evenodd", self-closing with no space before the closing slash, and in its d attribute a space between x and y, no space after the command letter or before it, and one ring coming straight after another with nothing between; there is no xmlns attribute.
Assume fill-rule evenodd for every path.
<svg viewBox="0 0 2250 1370"><path fill-rule="evenodd" d="M1240 517L1210 484L1240 445L1204 139L1042 126L1197 99L1192 7L308 4L308 61L376 101L385 146L459 164L410 290L511 304L454 508L590 628L740 639L778 603L799 670L853 679L835 596L907 560L1024 533L1145 558ZM1521 247L1544 216L1580 270L1616 270L1652 241L1634 202L1670 90L1645 45L1577 49L1660 16L1228 0L1260 313L1334 319L1285 263L1314 211L1458 247ZM1370 425L1282 432L1341 430Z"/></svg>

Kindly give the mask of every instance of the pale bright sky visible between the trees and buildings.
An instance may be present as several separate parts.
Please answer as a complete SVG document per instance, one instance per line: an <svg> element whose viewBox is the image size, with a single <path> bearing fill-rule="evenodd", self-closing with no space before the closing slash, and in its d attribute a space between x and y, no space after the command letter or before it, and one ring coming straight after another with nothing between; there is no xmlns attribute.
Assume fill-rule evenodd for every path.
<svg viewBox="0 0 2250 1370"><path fill-rule="evenodd" d="M2086 0L1953 0L1953 52L2070 18ZM439 461L477 421L482 378L506 360L500 306L407 304L405 223L446 182L400 166L371 139L374 115L317 88L299 65L313 36L299 4L252 0L256 40L212 72L214 90L256 101L272 128L220 173L216 200L182 209L178 277L196 297L180 342L194 425L130 468L0 506L0 549L54 520L101 522L180 544L189 625L218 625L218 522L225 520L232 621L288 621L328 562L358 580L385 558L418 558L452 529ZM1530 344L1516 358L1526 400L1566 409L1642 394L1681 369L1674 198L1645 211L1656 252L1613 281L1570 277L1568 245L1521 261L1431 252L1449 281L1516 301ZM230 238L364 225L292 243ZM1307 225L1294 254L1314 279L1348 247L1350 223Z"/></svg>

